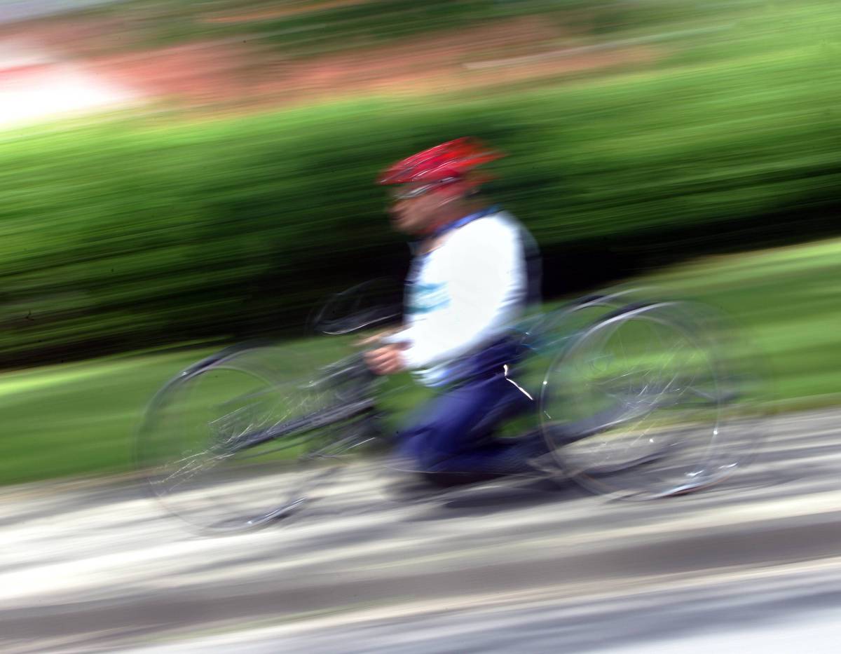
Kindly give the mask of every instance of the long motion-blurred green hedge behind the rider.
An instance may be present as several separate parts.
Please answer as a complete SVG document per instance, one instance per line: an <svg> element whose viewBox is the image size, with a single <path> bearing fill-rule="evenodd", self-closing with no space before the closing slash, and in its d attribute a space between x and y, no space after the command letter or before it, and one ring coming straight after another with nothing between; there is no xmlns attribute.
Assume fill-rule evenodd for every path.
<svg viewBox="0 0 841 654"><path fill-rule="evenodd" d="M788 11L796 22L760 14L722 37L714 62L607 81L10 138L0 365L300 324L324 293L399 274L405 249L373 179L462 134L509 153L491 190L547 251L656 246L681 229L732 247L763 216L829 214L841 41L812 30L841 20L829 2Z"/></svg>

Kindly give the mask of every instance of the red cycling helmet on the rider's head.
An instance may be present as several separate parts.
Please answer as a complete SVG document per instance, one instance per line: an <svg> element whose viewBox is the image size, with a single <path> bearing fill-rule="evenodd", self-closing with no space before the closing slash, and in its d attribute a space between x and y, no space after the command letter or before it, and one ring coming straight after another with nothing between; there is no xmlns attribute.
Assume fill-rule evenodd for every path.
<svg viewBox="0 0 841 654"><path fill-rule="evenodd" d="M380 175L380 184L407 182L449 183L467 182L471 186L483 182L468 173L476 166L499 159L499 152L488 150L481 142L469 137L447 141L423 150L408 159L389 166ZM486 178L485 178L486 179Z"/></svg>

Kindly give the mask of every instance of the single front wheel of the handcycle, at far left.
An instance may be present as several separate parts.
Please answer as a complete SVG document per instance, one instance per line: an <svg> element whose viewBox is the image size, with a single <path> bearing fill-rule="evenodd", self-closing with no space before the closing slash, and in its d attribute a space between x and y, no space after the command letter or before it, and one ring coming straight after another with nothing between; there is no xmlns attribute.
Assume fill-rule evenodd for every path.
<svg viewBox="0 0 841 654"><path fill-rule="evenodd" d="M145 414L138 466L151 493L198 530L240 531L291 515L336 466L309 456L331 420L307 416L324 415L332 398L308 377L283 380L289 354L278 356L255 348L199 364Z"/></svg>

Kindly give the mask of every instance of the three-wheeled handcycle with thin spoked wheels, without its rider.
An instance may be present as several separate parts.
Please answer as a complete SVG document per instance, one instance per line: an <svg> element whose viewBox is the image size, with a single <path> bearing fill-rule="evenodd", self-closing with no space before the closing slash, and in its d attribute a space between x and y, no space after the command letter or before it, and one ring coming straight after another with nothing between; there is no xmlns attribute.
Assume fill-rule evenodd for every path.
<svg viewBox="0 0 841 654"><path fill-rule="evenodd" d="M354 312L354 302L336 318L336 305L359 288L320 310L321 332L351 334L394 319L382 307ZM758 360L744 356L738 332L712 309L633 295L580 298L512 328L527 354L516 382L534 400L549 451L541 468L621 498L719 483L759 445ZM233 348L198 361L146 411L138 467L152 494L201 530L288 518L339 467L376 467L389 449L381 379L361 354L287 379L270 351Z"/></svg>

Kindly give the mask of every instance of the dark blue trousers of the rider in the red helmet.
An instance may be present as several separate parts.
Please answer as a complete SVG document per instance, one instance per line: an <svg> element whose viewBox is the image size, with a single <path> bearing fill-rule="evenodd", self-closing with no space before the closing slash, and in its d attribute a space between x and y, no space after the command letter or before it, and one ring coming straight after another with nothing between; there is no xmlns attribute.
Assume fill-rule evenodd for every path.
<svg viewBox="0 0 841 654"><path fill-rule="evenodd" d="M431 400L414 424L399 433L398 451L419 472L510 474L527 469L534 443L494 438L496 428L534 402L505 377L503 362L516 347L497 343L473 356L472 374Z"/></svg>

